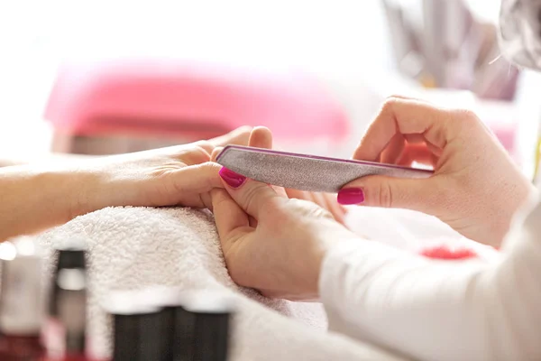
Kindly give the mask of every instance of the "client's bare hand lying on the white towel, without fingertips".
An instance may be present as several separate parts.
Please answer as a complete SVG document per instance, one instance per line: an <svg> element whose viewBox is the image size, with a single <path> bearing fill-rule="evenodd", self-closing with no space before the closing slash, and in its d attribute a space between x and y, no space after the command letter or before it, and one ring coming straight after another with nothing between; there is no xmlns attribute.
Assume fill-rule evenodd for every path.
<svg viewBox="0 0 541 361"><path fill-rule="evenodd" d="M72 216L112 206L209 207L208 191L222 187L210 154L216 146L246 145L250 134L241 127L209 141L78 162L84 180Z"/></svg>

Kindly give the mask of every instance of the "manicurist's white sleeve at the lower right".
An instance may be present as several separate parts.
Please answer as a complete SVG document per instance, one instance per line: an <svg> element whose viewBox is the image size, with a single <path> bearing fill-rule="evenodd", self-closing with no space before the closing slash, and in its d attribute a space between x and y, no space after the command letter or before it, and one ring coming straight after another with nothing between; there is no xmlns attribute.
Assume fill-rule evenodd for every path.
<svg viewBox="0 0 541 361"><path fill-rule="evenodd" d="M532 208L496 264L344 242L319 280L329 329L420 360L540 360L541 206Z"/></svg>

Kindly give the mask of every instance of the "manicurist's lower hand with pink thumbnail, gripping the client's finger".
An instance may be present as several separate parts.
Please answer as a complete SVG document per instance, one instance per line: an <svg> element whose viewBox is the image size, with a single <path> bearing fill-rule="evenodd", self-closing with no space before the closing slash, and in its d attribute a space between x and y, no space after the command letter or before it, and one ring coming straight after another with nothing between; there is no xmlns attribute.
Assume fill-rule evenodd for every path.
<svg viewBox="0 0 541 361"><path fill-rule="evenodd" d="M329 247L355 236L315 203L288 199L267 184L222 171L211 190L225 263L234 282L269 297L315 299Z"/></svg>

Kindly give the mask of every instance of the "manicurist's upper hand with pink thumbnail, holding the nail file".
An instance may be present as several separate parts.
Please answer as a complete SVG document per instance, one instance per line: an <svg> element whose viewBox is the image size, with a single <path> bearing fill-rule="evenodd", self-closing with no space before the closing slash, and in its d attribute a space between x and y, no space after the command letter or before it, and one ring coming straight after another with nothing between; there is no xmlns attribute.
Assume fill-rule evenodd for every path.
<svg viewBox="0 0 541 361"><path fill-rule="evenodd" d="M340 203L418 210L489 245L500 245L513 214L533 190L472 112L416 99L390 97L353 158L408 166L427 163L435 173L426 180L354 180L338 193Z"/></svg>

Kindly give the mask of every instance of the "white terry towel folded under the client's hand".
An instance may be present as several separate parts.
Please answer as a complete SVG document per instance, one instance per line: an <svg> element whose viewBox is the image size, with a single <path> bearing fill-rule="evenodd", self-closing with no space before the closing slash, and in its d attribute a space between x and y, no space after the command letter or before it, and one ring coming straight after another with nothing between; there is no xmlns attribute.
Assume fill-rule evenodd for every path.
<svg viewBox="0 0 541 361"><path fill-rule="evenodd" d="M235 361L403 359L326 332L319 303L271 300L238 287L227 273L207 211L105 208L51 229L39 242L50 260L52 245L74 237L85 239L89 250L88 332L98 356L109 356L112 347L111 319L99 306L108 293L164 285L234 297Z"/></svg>

